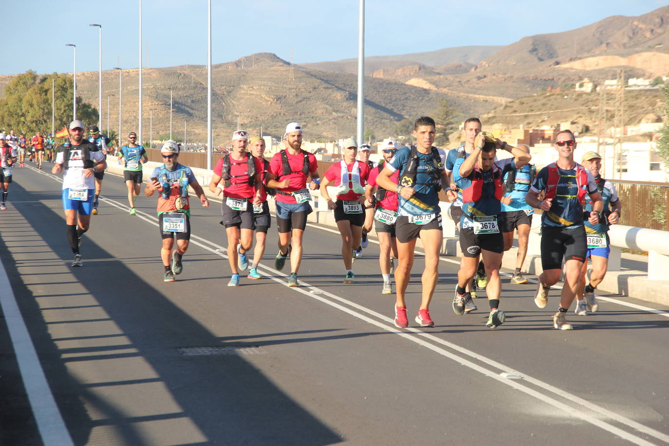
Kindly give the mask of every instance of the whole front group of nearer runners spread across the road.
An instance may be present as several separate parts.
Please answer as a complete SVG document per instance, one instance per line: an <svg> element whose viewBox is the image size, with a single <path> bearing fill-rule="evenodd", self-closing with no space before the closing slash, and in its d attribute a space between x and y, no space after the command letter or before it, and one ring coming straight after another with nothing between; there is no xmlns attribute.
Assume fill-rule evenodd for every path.
<svg viewBox="0 0 669 446"><path fill-rule="evenodd" d="M381 292L393 293L391 273L394 269L395 325L399 328L409 326L405 292L415 245L417 239L421 240L425 267L415 321L423 327L434 326L429 304L438 282L443 240L439 191L442 185L450 185L446 197L452 201L451 215L459 229L462 249L453 300L456 314L477 309L472 292L478 285L485 288L490 306L486 326L496 328L504 324L504 312L500 310L502 255L510 249L517 229L519 249L511 282L527 283L520 271L535 208L543 210L543 273L535 295L537 306L545 308L547 305L550 287L559 280L565 259L566 280L558 311L553 316L555 328L571 329L565 316L577 296L576 314L595 312L594 288L603 278L608 257L607 225L617 223L620 212L615 188L599 177L601 156L595 152L585 154L583 162L587 169L575 162L575 138L571 131L563 130L555 141L559 159L537 172L529 164L531 155L527 146L512 147L482 132L478 118L465 122L464 143L448 154L433 146L435 130L432 118L418 118L413 130L416 144L398 150L396 142L389 140L381 148L383 160L371 166L368 160L357 159L358 144L353 138L347 138L343 144L343 159L330 166L322 182L315 156L301 147L303 134L299 123L286 126L284 149L269 161L264 158L262 138L250 138L244 130L233 132L232 150L216 164L209 183L209 190L221 197L221 225L225 226L231 269L227 285L239 286L240 271L247 269L249 279L261 277L258 264L271 224L267 199L274 196L278 229L274 267L284 269L290 257L288 286L299 286L302 238L307 215L312 212L310 190L320 188L320 199L332 209L341 233L345 284L355 282L353 262L363 237L371 229L371 223L367 223L367 209L371 209L369 213L381 247ZM106 168L104 150L100 150L100 144L84 140L83 132L82 122L70 124L70 145L59 147L52 170L53 173L66 171L63 203L68 241L74 254L72 266L82 265L79 244L82 234L88 230L97 199L94 177ZM119 150L131 215L136 213L134 198L142 183L141 166L147 162L146 151L134 143L135 139L136 134L131 132L128 144ZM510 158L497 160L498 150L510 152ZM161 148L164 163L153 170L151 180L145 185L147 197L159 192L157 212L163 239L161 258L165 282L173 282L175 275L183 271L183 255L191 233L189 187L203 207L209 206L193 171L179 163L179 151L176 142L164 144ZM330 196L328 186L334 191L334 197ZM613 211L608 211L609 206ZM604 209L607 213L602 215ZM585 284L587 257L593 262L589 284Z"/></svg>

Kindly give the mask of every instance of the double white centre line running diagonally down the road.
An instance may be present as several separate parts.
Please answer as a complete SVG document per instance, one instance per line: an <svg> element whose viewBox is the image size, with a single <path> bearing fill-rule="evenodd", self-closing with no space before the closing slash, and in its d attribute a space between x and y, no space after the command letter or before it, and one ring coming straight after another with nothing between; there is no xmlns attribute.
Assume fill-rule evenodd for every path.
<svg viewBox="0 0 669 446"><path fill-rule="evenodd" d="M112 204L115 207L118 207L119 209L125 209L125 206L118 203L117 201L111 200L111 199L106 199L106 201L110 204ZM143 214L140 215L140 219L147 221L148 223L151 223L155 226L158 225L157 217L149 217L148 214L145 213L139 213ZM311 225L311 224L310 224ZM312 225L313 226L313 225ZM332 233L339 233L338 231L334 231L329 228L321 228L318 227L318 229L324 229L326 231L330 231ZM216 243L213 243L207 239L204 239L203 237L198 237L196 235L191 235L191 239L197 239L201 240L202 242L205 242L213 247L209 247L207 245L204 245L203 243L200 243L198 241L193 241L191 243L194 243L195 245L202 247L203 249L206 249L207 251L210 251L216 255L219 255L220 257L226 258L227 256L224 255L221 250L224 248L217 245ZM444 259L448 260L452 263L459 264L458 261L454 261L451 259ZM276 271L275 269L271 267L267 267L265 265L259 265L259 269L261 271L270 271L274 275L267 275L270 279L274 280L274 282L278 282L279 284L286 285L284 282L283 278L276 277L276 276L281 276L281 277L287 277L286 274L280 273L280 271ZM311 288L311 290L307 290L308 288ZM557 288L557 287L555 287ZM615 427L609 423L606 423L605 421L601 421L600 419L597 419L593 417L592 415L589 415L589 413L586 413L584 411L579 411L579 409L575 409L573 407L569 407L568 405L565 405L564 403L561 403L560 401L557 401L557 399L554 399L553 397L550 397L549 395L544 395L542 393L539 393L538 391L535 391L532 388L528 388L527 386L523 386L519 384L522 380L527 380L527 382L531 382L532 384L535 384L536 386L539 386L543 388L545 391L549 391L551 393L554 393L558 397L561 397L563 399L567 399L569 401L572 401L573 403L576 403L578 405L581 405L583 407L587 407L587 409L590 409L591 411L595 411L605 417L609 417L610 419L613 419L619 423L622 423L624 425L627 425L628 427L632 427L633 429L636 429L637 431L640 431L642 433L646 433L647 435L650 435L652 437L655 437L657 439L660 439L662 441L665 441L669 443L669 435L666 435L660 431L656 431L655 429L652 429L650 427L647 427L645 425L642 425L641 423L637 423L636 421L627 419L626 417L623 417L622 415L618 415L617 413L613 413L611 411L608 411L607 409L603 409L587 400L581 399L579 397L576 397L575 395L571 395L569 393L566 393L560 388L557 388L555 386L552 386L551 384L548 384L546 382L543 382L539 379L533 378L527 374L523 374L522 372L519 372L517 370L514 370L512 368L509 368L508 366L505 366L504 364L500 364L494 360L490 360L490 358L487 358L486 356L477 354L475 352L472 352L471 350L467 350L466 348L463 348L461 346L458 346L456 344L452 344L451 342L448 342L446 340L442 340L441 338L438 338L437 336L434 336L432 334L425 333L421 330L418 330L417 328L407 328L405 331L399 331L396 328L394 328L391 324L393 324L393 320L390 318L387 318L386 316L383 316L382 314L379 314L378 312L375 312L374 310L370 310L369 308L366 308L364 306L361 306L359 304L356 304L355 302L351 302L349 300L346 300L345 298L341 298L339 296L336 296L334 294L331 294L329 292L326 292L324 290L320 290L319 288L316 288L314 286L310 286L309 284L306 284L306 282L302 282L302 288L293 288L295 292L300 292L304 294L305 296L308 296L310 298L313 298L314 300L318 300L319 302L323 302L324 304L327 304L329 306L332 306L334 308L337 308L338 310L341 310L343 312L346 312L347 314L350 314L351 316L354 316L355 318L358 318L360 320L363 320L365 322L369 322L370 324L373 324L383 330L387 330L389 332L398 334L399 336L402 336L403 338L410 340L412 342L415 342L417 344L420 344L422 346L425 346L426 348L429 348L430 350L433 350L434 352L437 352L438 354L441 354L442 356L445 356L447 358L450 358L456 362L459 362L462 365L468 366L472 368L472 370L476 370L477 372L480 372L486 376L489 376L490 378L494 378L498 380L499 382L502 382L512 388L515 388L516 390L522 391L523 393L530 395L531 397L535 397L539 399L540 401L543 401L544 403L547 403L549 405L552 405L553 407L557 407L558 409L561 409L568 413L569 415L573 417L577 417L579 419L583 419L584 421L587 421L591 423L592 425L595 425L597 427L600 427L601 429L608 431L609 433L613 433L615 435L619 435L621 438L626 439L634 444L637 445L652 445L652 443L640 438L636 437L635 435L632 435L631 433L628 433L626 431L623 431L622 429L619 429L618 427ZM322 294L324 296L328 296L331 299L338 300L339 302L342 302L343 304L346 304L348 306L351 306L353 308L357 308L357 310L361 310L362 312L365 312L371 316L375 316L379 320L385 322L386 324L379 322L377 320L373 320L364 314L361 314L359 312L356 312L355 310L351 310L350 308L347 308L341 304L338 304L337 302L332 302L331 300L328 300L324 297L321 297L319 294L314 294L311 291L318 291L320 292L319 294ZM412 336L410 333L413 333L413 335L417 336ZM474 362L471 362L470 360L467 360L466 358L463 358L462 356L458 356L457 354L454 354L452 352L448 352L448 350L445 350L444 348L441 348L440 346L436 346L434 344L431 344L421 338L427 338L431 340L432 342L436 342L438 344L442 344L444 346L448 346L452 350L456 350L457 352L460 352L461 354L465 354L467 356L470 356L472 358L475 358L476 360L479 360L480 362L483 362L484 364L488 364L489 366L493 366L494 368L498 368L499 370L502 370L506 373L510 374L518 374L522 376L522 380L509 380L508 378L503 378L500 376L500 374L496 372L492 372L486 368L483 368L482 366L479 366L478 364L475 364Z"/></svg>

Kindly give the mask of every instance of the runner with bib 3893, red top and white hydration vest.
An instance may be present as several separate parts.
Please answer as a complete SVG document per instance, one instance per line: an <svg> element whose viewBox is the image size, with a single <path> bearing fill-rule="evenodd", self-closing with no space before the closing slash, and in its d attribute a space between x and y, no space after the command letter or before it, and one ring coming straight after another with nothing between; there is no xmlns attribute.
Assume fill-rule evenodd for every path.
<svg viewBox="0 0 669 446"><path fill-rule="evenodd" d="M369 177L369 165L358 161L358 144L353 138L346 138L343 143L343 159L332 164L320 183L320 197L328 203L328 209L334 211L334 221L341 235L341 256L346 268L345 284L355 282L353 259L355 249L360 245L365 223L363 201L365 201L365 181ZM344 180L344 178L346 178ZM330 199L327 186L332 183L337 193L337 202ZM371 203L371 200L367 200Z"/></svg>

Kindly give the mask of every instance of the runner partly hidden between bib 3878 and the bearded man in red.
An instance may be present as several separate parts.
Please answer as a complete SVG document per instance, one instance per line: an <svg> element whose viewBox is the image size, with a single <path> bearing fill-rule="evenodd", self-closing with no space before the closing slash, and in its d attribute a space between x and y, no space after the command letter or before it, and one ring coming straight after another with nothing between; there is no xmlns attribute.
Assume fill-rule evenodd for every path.
<svg viewBox="0 0 669 446"><path fill-rule="evenodd" d="M253 261L249 264L249 275L246 277L248 279L260 279L261 276L258 274L258 265L260 265L260 259L265 253L265 242L267 240L267 230L270 228L272 217L270 216L270 205L267 203L268 195L276 195L274 189L268 188L267 182L268 178L271 175L268 175L270 170L270 162L264 158L265 153L265 140L256 136L251 138L249 141L249 147L251 148L251 154L258 158L263 165L262 168L262 187L260 188L260 205L254 205L253 208L253 217L254 217L254 226L256 228L256 247L253 251Z"/></svg>

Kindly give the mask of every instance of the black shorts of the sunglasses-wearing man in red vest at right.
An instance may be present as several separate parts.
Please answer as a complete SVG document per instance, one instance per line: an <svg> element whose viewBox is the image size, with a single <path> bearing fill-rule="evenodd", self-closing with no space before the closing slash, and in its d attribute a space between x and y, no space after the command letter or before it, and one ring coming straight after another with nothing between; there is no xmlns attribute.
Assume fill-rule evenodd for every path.
<svg viewBox="0 0 669 446"><path fill-rule="evenodd" d="M566 227L541 228L541 267L543 269L562 269L562 259L585 261L587 239L585 227L571 229Z"/></svg>

